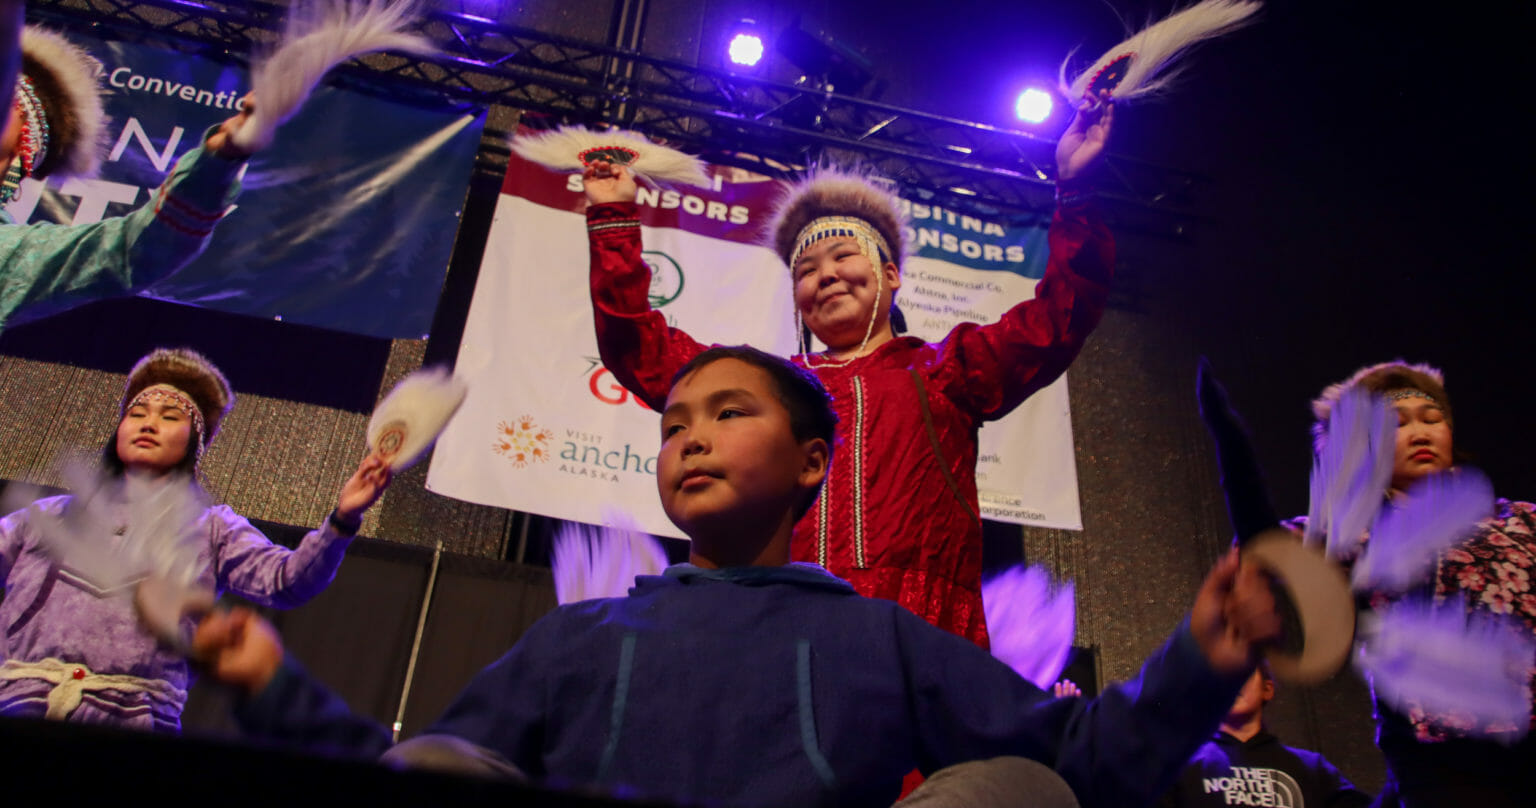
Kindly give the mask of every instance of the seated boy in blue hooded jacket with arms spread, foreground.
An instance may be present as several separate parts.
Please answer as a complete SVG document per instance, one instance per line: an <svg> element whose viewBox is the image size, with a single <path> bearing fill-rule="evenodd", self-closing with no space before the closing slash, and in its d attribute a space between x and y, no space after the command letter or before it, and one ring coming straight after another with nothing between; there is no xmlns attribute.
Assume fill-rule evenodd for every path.
<svg viewBox="0 0 1536 808"><path fill-rule="evenodd" d="M1137 679L1054 699L900 605L790 562L834 421L816 376L785 359L694 358L667 398L656 473L690 564L554 610L395 750L249 613L209 616L197 645L250 694L249 733L316 751L684 803L886 806L914 767L931 777L911 805L1150 803L1278 633L1267 584L1224 558Z"/></svg>

